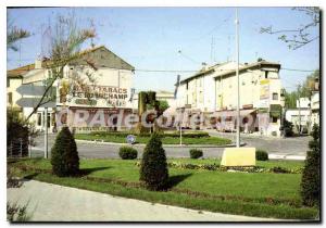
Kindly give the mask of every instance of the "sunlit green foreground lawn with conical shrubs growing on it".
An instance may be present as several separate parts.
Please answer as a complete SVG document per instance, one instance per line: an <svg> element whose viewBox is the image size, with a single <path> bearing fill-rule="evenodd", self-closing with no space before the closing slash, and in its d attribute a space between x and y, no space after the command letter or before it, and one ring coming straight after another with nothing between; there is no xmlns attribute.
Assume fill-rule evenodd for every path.
<svg viewBox="0 0 326 228"><path fill-rule="evenodd" d="M168 162L218 164L217 160L168 160ZM137 160L80 160L83 177L51 175L49 161L22 160L10 163L16 175L75 188L88 189L153 203L248 216L313 219L315 207L302 207L300 174L228 173L170 168L172 188L164 192L143 189ZM300 167L302 162L259 162L260 166Z"/></svg>

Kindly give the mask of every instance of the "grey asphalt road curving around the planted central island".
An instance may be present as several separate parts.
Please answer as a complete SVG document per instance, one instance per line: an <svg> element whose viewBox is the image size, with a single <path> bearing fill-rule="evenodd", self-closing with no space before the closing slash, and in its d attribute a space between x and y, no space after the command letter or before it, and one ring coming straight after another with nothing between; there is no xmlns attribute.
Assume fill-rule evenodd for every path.
<svg viewBox="0 0 326 228"><path fill-rule="evenodd" d="M235 140L234 134L220 134L216 131L210 131L212 136L220 136ZM49 135L49 151L53 145L55 135ZM246 147L254 147L256 149L264 149L269 154L279 155L305 155L308 151L308 142L310 137L294 137L294 138L267 138L267 137L252 137L241 135L241 142L246 143ZM39 136L36 139L37 145L33 148L33 156L43 155L43 137ZM93 142L77 142L78 153L84 159L117 159L118 144L102 144ZM138 156L141 157L143 145L134 145L138 150ZM189 157L189 148L185 147L165 147L165 153L167 157ZM201 148L204 157L221 157L224 148Z"/></svg>

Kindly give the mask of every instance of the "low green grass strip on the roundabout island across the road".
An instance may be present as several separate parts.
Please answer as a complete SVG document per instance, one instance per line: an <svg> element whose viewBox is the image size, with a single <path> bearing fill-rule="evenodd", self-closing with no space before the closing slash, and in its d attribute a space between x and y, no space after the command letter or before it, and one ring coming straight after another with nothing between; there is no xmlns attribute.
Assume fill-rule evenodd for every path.
<svg viewBox="0 0 326 228"><path fill-rule="evenodd" d="M125 136L115 136L113 134L109 135L93 135L93 134L76 134L75 139L82 140L97 140L97 141L104 141L104 142L118 142L118 143L127 143ZM136 142L137 143L147 143L149 141L149 137L147 136L137 136ZM162 138L163 144L179 144L180 139L178 137L170 137L165 136ZM223 145L231 143L231 140L218 138L218 137L199 137L199 138L190 138L190 137L183 137L184 144L215 144L215 145Z"/></svg>

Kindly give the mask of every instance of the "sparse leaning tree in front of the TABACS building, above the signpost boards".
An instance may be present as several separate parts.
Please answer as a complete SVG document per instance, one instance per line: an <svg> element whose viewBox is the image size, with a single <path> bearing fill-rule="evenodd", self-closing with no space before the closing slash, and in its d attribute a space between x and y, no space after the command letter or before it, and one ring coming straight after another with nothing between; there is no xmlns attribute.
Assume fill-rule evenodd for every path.
<svg viewBox="0 0 326 228"><path fill-rule="evenodd" d="M93 27L83 28L78 26L74 15L62 16L58 15L54 26L49 26L49 58L45 61L45 66L50 71L52 76L48 78L46 84L45 93L40 98L37 105L33 109L27 119L40 107L41 105L53 101L55 97L48 99L53 84L63 78L63 69L70 62L77 59L80 52L80 46L88 39L92 39L96 36ZM90 62L89 65L92 65ZM90 80L91 75L87 75ZM73 80L75 84L84 84L82 78L75 77Z"/></svg>

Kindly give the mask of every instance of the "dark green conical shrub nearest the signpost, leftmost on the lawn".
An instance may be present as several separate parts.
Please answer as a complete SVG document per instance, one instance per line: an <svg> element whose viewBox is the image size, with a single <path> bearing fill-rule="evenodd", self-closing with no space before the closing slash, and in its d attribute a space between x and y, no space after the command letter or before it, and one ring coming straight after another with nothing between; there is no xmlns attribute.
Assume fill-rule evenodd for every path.
<svg viewBox="0 0 326 228"><path fill-rule="evenodd" d="M79 156L74 136L63 127L51 150L52 172L59 177L74 176L79 172Z"/></svg>

